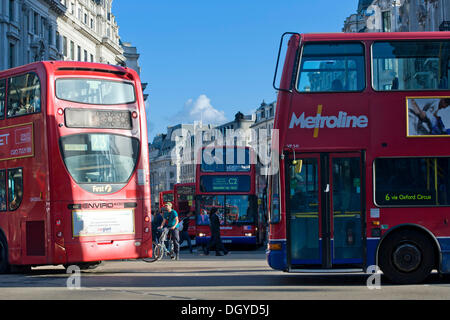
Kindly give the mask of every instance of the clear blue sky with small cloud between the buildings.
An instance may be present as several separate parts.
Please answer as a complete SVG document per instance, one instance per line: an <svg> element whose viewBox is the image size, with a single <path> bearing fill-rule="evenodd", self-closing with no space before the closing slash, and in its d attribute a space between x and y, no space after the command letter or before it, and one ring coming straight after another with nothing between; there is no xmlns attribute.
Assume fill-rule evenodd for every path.
<svg viewBox="0 0 450 320"><path fill-rule="evenodd" d="M280 36L341 32L357 0L114 0L119 35L140 53L149 139L181 122L223 123L276 100Z"/></svg>

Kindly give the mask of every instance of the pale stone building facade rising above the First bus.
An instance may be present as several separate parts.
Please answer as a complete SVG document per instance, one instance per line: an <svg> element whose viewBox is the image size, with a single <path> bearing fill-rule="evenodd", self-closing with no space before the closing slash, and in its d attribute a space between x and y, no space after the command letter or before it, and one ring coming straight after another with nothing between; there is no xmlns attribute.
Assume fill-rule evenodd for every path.
<svg viewBox="0 0 450 320"><path fill-rule="evenodd" d="M0 69L41 60L125 65L112 0L0 0Z"/></svg>

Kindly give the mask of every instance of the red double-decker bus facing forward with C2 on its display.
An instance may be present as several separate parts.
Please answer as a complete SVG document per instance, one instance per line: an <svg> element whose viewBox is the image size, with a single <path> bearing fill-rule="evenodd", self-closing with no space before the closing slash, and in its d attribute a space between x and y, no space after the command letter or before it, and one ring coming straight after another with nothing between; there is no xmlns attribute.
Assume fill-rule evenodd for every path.
<svg viewBox="0 0 450 320"><path fill-rule="evenodd" d="M196 244L210 239L209 217L217 208L225 244L258 246L264 241L264 221L258 214L256 171L249 147L204 147L196 168ZM230 161L231 159L231 161Z"/></svg>

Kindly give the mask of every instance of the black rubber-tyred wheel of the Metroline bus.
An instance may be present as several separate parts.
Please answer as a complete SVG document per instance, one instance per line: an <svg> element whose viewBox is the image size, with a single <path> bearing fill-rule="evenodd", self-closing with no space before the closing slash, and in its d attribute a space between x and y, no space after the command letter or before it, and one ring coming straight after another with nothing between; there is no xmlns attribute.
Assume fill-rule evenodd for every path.
<svg viewBox="0 0 450 320"><path fill-rule="evenodd" d="M379 263L392 282L413 284L424 281L434 267L434 247L424 234L401 230L389 236L380 248Z"/></svg>

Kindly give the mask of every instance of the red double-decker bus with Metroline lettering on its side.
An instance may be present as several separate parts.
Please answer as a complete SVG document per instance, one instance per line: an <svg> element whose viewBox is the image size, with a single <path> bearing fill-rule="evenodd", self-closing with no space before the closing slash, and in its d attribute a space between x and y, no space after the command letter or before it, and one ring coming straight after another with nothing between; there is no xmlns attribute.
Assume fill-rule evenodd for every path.
<svg viewBox="0 0 450 320"><path fill-rule="evenodd" d="M450 33L287 37L269 265L450 272Z"/></svg>

